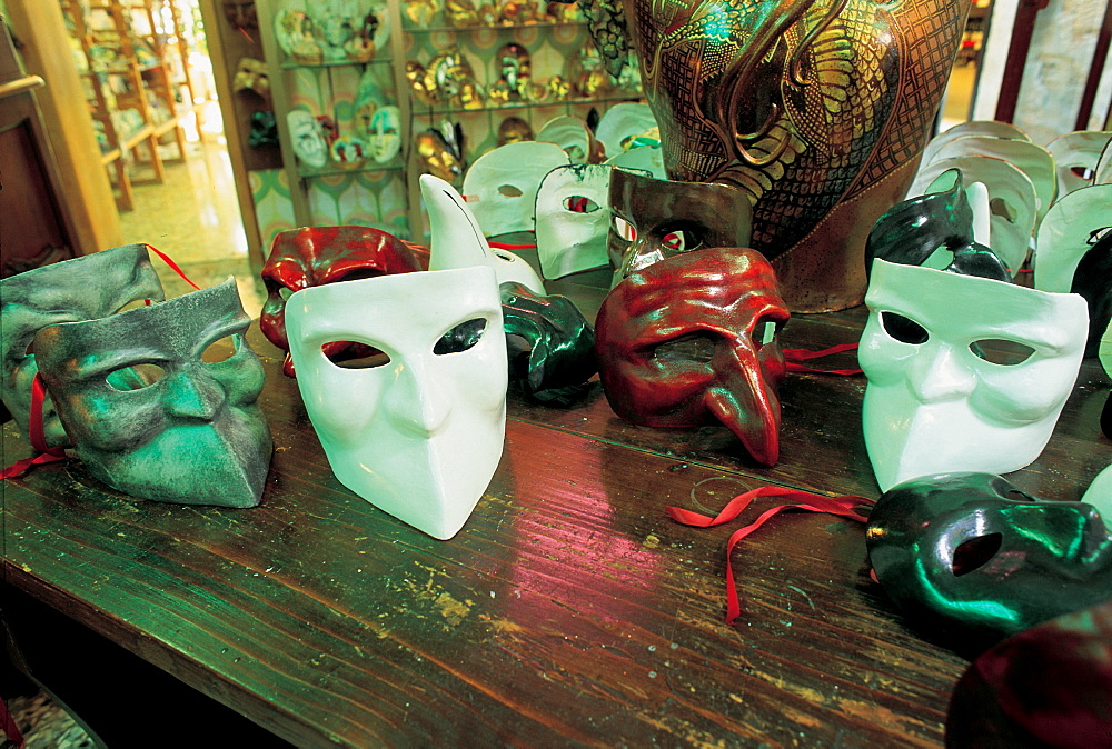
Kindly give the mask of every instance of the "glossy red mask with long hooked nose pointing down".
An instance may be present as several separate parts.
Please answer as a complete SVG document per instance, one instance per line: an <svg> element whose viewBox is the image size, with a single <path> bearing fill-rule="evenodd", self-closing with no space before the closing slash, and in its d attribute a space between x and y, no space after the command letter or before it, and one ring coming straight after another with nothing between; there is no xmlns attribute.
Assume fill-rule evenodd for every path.
<svg viewBox="0 0 1112 749"><path fill-rule="evenodd" d="M724 423L772 466L785 373L776 332L787 319L772 268L754 250L709 248L634 271L595 323L606 398L649 427Z"/></svg>

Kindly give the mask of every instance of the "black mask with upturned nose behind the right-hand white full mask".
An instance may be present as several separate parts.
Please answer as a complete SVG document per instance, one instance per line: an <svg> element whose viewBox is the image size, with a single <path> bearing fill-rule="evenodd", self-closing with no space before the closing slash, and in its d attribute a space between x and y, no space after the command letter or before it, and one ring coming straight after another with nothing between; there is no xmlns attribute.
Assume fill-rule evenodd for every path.
<svg viewBox="0 0 1112 749"><path fill-rule="evenodd" d="M973 208L961 170L944 172L932 189L937 191L905 200L881 217L865 243L865 272L881 258L1010 282L1012 274L1000 258L974 240Z"/></svg>

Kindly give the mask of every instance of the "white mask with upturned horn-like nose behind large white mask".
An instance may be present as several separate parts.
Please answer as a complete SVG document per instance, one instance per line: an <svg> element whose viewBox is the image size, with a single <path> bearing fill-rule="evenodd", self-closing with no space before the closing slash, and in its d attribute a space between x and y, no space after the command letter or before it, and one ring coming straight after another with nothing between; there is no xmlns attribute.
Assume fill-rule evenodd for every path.
<svg viewBox="0 0 1112 749"><path fill-rule="evenodd" d="M535 294L543 297L548 293L533 266L509 250L490 247L478 220L456 188L434 174L421 174L420 191L433 234L429 270L487 266L494 270L499 286L516 282Z"/></svg>

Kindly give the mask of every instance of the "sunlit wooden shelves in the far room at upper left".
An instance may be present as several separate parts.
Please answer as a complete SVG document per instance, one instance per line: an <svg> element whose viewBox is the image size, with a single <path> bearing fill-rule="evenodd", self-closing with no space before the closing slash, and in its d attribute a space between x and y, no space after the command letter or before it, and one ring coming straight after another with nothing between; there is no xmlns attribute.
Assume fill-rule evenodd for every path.
<svg viewBox="0 0 1112 749"><path fill-rule="evenodd" d="M140 163L140 149L155 182L163 179L160 141L172 137L177 158L186 158L181 118L193 89L182 19L167 0L61 0L61 8L101 161L115 176L118 206L131 210L129 162Z"/></svg>

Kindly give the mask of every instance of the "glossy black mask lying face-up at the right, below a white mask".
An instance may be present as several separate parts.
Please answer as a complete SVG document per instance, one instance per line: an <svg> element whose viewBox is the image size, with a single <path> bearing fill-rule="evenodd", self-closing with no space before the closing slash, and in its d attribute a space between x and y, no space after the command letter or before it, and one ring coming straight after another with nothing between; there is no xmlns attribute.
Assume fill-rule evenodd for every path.
<svg viewBox="0 0 1112 749"><path fill-rule="evenodd" d="M991 473L901 483L873 508L867 542L909 618L965 647L1112 599L1112 535L1096 510Z"/></svg>

